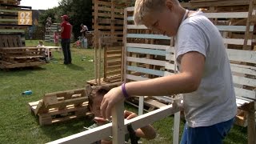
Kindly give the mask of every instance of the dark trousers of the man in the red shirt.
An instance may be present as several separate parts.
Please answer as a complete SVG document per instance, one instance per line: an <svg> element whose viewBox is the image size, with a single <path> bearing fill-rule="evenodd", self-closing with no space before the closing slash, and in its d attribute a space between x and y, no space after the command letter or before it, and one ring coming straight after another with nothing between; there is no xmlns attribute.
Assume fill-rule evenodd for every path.
<svg viewBox="0 0 256 144"><path fill-rule="evenodd" d="M72 62L70 52L70 39L62 38L62 51L64 55L64 64L70 64Z"/></svg>

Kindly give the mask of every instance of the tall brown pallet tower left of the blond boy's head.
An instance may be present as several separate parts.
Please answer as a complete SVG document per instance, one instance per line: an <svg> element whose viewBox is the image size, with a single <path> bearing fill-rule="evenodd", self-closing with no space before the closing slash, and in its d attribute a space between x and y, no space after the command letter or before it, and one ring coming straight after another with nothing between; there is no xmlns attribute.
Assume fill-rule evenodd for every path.
<svg viewBox="0 0 256 144"><path fill-rule="evenodd" d="M123 9L126 4L118 4L114 0L93 0L94 47L98 47L98 38L105 46L122 46Z"/></svg>

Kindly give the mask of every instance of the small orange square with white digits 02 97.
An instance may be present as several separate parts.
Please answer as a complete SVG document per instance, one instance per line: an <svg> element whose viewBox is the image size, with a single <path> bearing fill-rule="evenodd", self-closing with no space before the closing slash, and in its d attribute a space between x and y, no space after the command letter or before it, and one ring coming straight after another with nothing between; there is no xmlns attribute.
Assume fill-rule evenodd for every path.
<svg viewBox="0 0 256 144"><path fill-rule="evenodd" d="M32 11L18 11L18 25L32 25Z"/></svg>

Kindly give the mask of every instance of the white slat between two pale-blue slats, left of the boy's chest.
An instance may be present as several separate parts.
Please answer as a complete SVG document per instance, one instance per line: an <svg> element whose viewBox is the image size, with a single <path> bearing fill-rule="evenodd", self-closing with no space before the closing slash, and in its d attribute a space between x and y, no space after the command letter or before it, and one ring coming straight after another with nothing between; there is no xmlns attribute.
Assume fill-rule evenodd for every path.
<svg viewBox="0 0 256 144"><path fill-rule="evenodd" d="M154 59L147 59L147 58L134 58L134 57L127 57L127 62L138 62L144 63L154 66L166 66L166 62L154 60Z"/></svg>

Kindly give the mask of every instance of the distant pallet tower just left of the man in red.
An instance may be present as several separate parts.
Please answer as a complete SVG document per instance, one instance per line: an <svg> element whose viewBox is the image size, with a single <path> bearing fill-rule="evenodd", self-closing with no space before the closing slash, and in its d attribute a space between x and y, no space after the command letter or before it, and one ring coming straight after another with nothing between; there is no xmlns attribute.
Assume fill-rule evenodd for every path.
<svg viewBox="0 0 256 144"><path fill-rule="evenodd" d="M45 41L46 42L54 42L54 32L58 32L58 38L60 38L60 31L61 26L59 23L54 23L50 27L46 27L46 34L45 34ZM59 40L60 42L60 40Z"/></svg>

